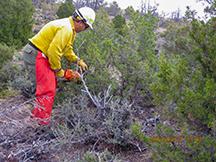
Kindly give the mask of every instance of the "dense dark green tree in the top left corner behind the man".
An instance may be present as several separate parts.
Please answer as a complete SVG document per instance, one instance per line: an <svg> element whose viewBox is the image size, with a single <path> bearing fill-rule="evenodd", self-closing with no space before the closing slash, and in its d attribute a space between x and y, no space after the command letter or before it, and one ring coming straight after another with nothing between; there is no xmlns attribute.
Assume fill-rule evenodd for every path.
<svg viewBox="0 0 216 162"><path fill-rule="evenodd" d="M8 0L0 2L0 42L21 47L32 34L31 0Z"/></svg>

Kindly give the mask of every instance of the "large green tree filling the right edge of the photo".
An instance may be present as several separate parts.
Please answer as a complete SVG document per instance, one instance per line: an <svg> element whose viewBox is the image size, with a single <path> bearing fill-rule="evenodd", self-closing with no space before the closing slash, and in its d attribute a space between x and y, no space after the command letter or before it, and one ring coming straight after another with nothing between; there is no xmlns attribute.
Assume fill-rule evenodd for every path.
<svg viewBox="0 0 216 162"><path fill-rule="evenodd" d="M157 150L154 156L158 161L216 159L215 151L211 151L216 149L216 78L213 70L216 68L216 19L211 17L203 22L196 19L194 13L188 8L189 19L170 24L163 34L165 48L156 60L150 84L154 103L162 114L175 119L185 138L191 134L194 137L184 144L181 141L152 144ZM178 135L171 126L162 127L158 127L159 136ZM197 142L197 136L202 140Z"/></svg>

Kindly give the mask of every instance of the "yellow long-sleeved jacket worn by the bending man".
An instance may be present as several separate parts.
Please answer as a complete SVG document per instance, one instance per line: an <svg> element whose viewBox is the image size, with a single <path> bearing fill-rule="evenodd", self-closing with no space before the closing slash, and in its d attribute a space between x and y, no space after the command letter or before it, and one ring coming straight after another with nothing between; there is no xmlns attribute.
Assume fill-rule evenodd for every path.
<svg viewBox="0 0 216 162"><path fill-rule="evenodd" d="M72 17L58 19L47 23L38 34L29 39L48 58L51 69L57 76L63 77L61 57L69 62L76 62L78 57L73 52L73 43L76 36Z"/></svg>

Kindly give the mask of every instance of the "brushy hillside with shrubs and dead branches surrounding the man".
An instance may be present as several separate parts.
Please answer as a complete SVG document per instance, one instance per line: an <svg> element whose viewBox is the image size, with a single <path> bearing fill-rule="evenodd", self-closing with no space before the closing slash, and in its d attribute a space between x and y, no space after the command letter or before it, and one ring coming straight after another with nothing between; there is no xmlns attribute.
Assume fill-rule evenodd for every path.
<svg viewBox="0 0 216 162"><path fill-rule="evenodd" d="M0 162L216 160L215 2L206 22L190 9L176 19L102 1L29 2L0 2ZM36 98L22 93L30 84L22 48L60 6L87 2L94 31L77 34L74 52L89 70L57 79L51 123L38 125ZM63 59L62 68L77 65Z"/></svg>

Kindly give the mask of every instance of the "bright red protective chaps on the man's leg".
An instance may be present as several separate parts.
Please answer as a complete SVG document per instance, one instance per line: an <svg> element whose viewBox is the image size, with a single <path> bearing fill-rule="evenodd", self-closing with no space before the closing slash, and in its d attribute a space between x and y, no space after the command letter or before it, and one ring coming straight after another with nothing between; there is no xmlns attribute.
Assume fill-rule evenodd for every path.
<svg viewBox="0 0 216 162"><path fill-rule="evenodd" d="M38 52L36 57L36 104L32 117L41 125L50 122L52 106L56 94L56 77L50 68L48 59Z"/></svg>

